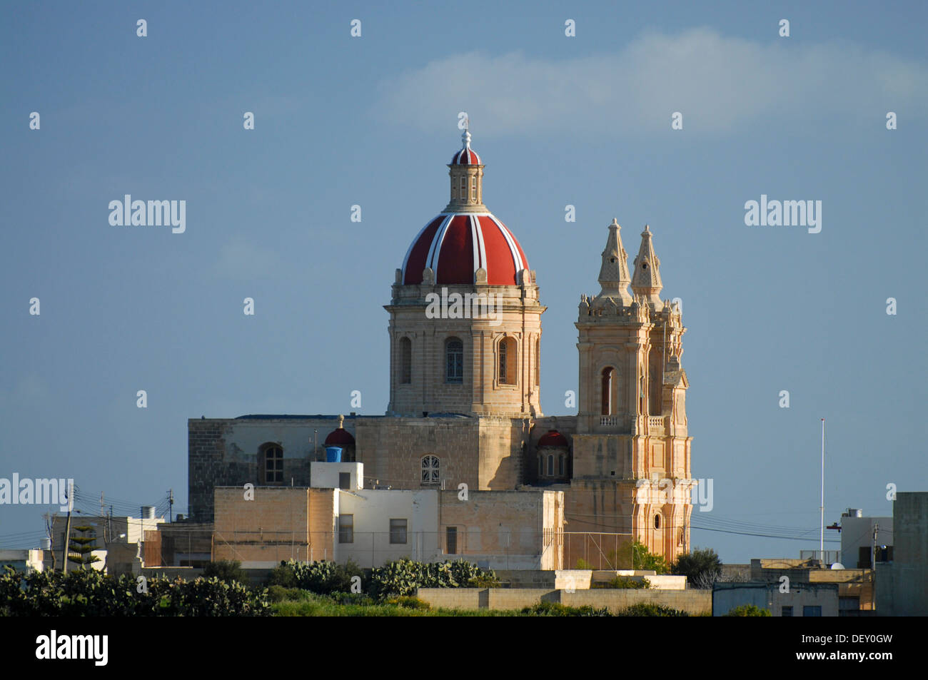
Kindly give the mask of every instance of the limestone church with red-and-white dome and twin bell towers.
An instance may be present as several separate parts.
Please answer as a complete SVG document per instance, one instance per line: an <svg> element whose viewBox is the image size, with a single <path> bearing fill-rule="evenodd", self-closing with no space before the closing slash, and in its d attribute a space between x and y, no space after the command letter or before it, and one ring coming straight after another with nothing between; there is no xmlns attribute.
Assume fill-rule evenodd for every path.
<svg viewBox="0 0 928 680"><path fill-rule="evenodd" d="M363 464L356 488L557 491L558 531L629 534L668 561L689 552L686 328L661 300L651 229L629 263L620 226L608 225L599 293L581 296L575 324L577 413L546 416L535 271L483 204L470 132L447 167L447 205L397 253L384 305L386 414L190 419L189 520L216 520L220 487L316 486L313 464L337 446L342 462ZM438 298L477 313L436 314Z"/></svg>

